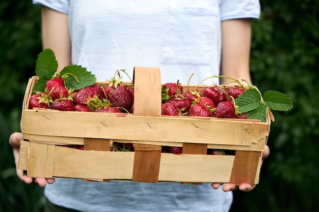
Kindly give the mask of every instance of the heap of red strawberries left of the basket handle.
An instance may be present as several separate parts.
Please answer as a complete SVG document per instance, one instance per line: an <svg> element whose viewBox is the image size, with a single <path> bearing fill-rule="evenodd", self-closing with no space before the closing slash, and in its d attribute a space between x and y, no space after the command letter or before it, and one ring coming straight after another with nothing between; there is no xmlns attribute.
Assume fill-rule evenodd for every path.
<svg viewBox="0 0 319 212"><path fill-rule="evenodd" d="M45 92L37 92L30 98L29 108L45 108L60 111L82 112L131 112L134 88L127 85L103 87L94 83L79 90L68 89L61 77L45 84Z"/></svg>

